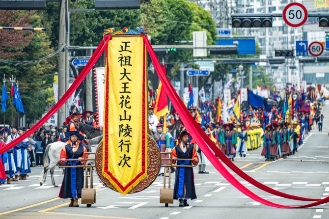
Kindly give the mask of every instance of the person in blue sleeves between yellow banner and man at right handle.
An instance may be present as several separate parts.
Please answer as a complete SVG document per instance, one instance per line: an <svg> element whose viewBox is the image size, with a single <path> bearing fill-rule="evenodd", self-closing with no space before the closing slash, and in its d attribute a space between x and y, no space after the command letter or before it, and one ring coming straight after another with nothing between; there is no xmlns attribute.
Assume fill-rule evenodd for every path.
<svg viewBox="0 0 329 219"><path fill-rule="evenodd" d="M170 148L170 139L169 136L164 133L164 125L161 123L158 123L156 125L157 133L153 135L153 139L157 142L160 152L168 152L168 149ZM169 154L162 154L161 158L169 158ZM161 164L163 165L170 165L170 161L161 161ZM160 173L158 176L164 176L164 167L160 168Z"/></svg>

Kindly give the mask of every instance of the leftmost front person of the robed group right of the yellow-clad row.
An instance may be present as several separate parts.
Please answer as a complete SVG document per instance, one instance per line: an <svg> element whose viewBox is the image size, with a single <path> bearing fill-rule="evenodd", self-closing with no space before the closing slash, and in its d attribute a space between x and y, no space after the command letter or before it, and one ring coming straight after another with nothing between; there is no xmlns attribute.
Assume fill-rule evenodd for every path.
<svg viewBox="0 0 329 219"><path fill-rule="evenodd" d="M265 161L274 161L276 156L273 134L274 132L272 131L272 125L268 124L264 134L263 150L261 153L261 156L266 158Z"/></svg>

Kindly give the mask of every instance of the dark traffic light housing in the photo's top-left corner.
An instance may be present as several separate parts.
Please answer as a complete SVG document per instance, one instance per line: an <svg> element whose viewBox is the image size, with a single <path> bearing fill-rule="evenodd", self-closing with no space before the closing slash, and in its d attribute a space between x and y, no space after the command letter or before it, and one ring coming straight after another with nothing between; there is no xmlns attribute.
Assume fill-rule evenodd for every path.
<svg viewBox="0 0 329 219"><path fill-rule="evenodd" d="M46 0L0 0L0 10L44 10Z"/></svg>

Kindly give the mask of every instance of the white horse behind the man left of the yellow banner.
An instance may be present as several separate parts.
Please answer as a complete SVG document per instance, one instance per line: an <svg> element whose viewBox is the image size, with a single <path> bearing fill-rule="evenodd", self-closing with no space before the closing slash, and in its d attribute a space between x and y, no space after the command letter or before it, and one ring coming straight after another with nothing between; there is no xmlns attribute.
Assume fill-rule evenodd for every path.
<svg viewBox="0 0 329 219"><path fill-rule="evenodd" d="M103 140L103 136L95 137L93 139L87 140L88 146L91 147L91 152L96 152L97 147L99 143ZM57 141L54 143L49 144L46 147L45 155L43 157L43 166L44 169L41 172L39 183L40 186L42 186L46 182L47 172L50 170L50 175L52 177L52 183L55 187L58 187L55 183L54 179L54 170L57 162L60 160L60 151L61 149L66 145L65 142ZM89 158L94 158L95 156L92 154L89 156ZM94 164L93 161L89 162L87 164Z"/></svg>

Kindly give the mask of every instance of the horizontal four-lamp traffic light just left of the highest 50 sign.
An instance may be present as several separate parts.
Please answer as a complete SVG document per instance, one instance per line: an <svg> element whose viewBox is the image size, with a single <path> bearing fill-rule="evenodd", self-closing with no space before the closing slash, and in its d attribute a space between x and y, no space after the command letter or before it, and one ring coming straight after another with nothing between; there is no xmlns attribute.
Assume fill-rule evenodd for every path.
<svg viewBox="0 0 329 219"><path fill-rule="evenodd" d="M240 17L240 16L231 16L232 18L232 27L272 27L272 17Z"/></svg>

